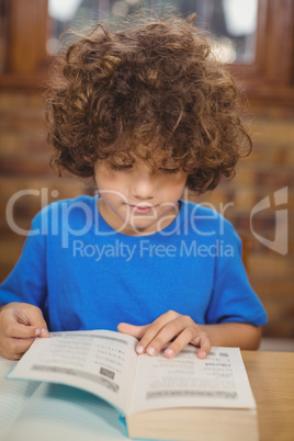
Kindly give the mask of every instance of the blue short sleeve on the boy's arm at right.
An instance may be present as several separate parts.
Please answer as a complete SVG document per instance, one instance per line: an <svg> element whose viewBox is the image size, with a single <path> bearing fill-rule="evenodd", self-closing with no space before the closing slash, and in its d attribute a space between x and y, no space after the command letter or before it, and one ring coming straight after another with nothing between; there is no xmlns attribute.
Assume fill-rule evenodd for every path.
<svg viewBox="0 0 294 441"><path fill-rule="evenodd" d="M224 219L223 225L206 323L237 321L255 326L264 325L265 310L249 283L241 260L241 240L228 220Z"/></svg>

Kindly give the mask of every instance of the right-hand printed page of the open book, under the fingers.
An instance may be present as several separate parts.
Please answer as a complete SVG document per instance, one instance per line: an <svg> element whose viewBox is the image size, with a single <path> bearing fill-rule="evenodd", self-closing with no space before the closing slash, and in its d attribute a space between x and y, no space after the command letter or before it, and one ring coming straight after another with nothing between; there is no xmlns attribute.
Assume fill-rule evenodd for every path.
<svg viewBox="0 0 294 441"><path fill-rule="evenodd" d="M138 357L127 415L165 407L255 408L238 348L212 348L205 360L186 346L174 359L162 351Z"/></svg>

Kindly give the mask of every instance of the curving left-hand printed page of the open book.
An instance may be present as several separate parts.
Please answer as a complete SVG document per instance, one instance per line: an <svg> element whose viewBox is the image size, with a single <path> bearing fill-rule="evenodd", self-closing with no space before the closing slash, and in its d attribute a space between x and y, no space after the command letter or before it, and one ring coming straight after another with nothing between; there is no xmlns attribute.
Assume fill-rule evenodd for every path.
<svg viewBox="0 0 294 441"><path fill-rule="evenodd" d="M108 330L52 332L50 338L35 340L8 377L80 387L125 412L136 343L132 336Z"/></svg>

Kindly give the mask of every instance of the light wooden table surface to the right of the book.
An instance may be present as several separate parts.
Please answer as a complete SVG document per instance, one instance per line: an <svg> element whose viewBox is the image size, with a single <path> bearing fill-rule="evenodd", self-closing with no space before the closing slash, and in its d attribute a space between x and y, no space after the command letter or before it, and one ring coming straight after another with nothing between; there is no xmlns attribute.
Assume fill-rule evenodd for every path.
<svg viewBox="0 0 294 441"><path fill-rule="evenodd" d="M258 406L260 441L294 441L294 352L241 353Z"/></svg>

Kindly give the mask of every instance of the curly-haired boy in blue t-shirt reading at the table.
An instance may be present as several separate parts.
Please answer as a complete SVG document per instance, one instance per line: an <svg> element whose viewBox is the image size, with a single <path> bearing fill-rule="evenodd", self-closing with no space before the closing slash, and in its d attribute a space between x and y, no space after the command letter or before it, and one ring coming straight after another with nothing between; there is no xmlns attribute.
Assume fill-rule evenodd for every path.
<svg viewBox="0 0 294 441"><path fill-rule="evenodd" d="M93 178L99 196L35 216L0 291L0 354L19 359L48 329L105 328L137 353L184 346L257 349L264 309L231 225L181 200L230 178L241 142L239 91L188 21L98 25L69 46L48 97L53 163Z"/></svg>

